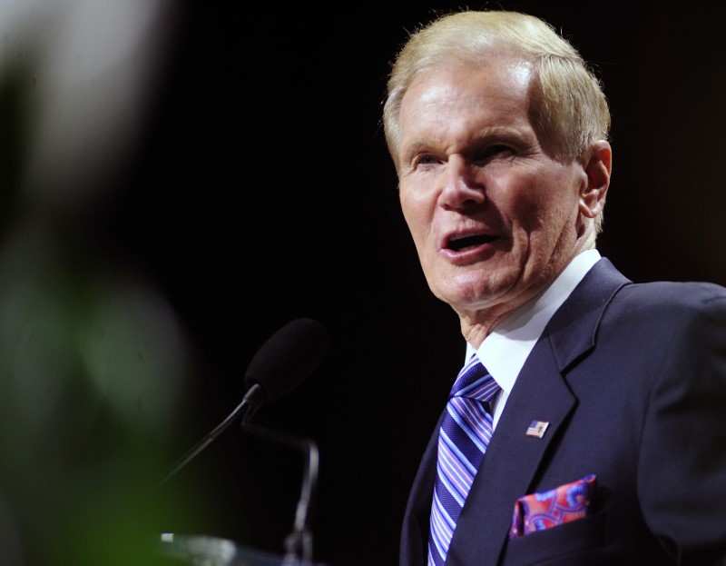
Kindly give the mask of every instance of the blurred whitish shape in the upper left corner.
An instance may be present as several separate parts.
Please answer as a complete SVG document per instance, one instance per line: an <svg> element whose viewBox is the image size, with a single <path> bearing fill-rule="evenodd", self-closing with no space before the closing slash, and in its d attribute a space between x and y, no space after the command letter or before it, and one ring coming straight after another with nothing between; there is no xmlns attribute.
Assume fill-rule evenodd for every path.
<svg viewBox="0 0 726 566"><path fill-rule="evenodd" d="M30 82L26 196L100 196L138 141L174 25L167 0L0 0L0 68Z"/></svg>

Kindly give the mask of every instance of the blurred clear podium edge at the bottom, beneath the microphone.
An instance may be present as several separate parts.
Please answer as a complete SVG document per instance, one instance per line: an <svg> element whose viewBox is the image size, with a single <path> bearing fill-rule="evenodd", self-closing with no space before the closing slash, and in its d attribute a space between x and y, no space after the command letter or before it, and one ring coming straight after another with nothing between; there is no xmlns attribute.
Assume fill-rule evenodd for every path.
<svg viewBox="0 0 726 566"><path fill-rule="evenodd" d="M203 534L165 532L158 543L158 554L165 566L330 566L276 556L240 546L229 539Z"/></svg>

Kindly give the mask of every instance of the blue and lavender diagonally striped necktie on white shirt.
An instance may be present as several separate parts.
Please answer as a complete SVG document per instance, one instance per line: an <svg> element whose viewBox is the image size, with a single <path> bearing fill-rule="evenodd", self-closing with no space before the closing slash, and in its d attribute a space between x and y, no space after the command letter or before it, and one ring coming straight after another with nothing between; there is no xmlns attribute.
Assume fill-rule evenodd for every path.
<svg viewBox="0 0 726 566"><path fill-rule="evenodd" d="M438 436L437 481L431 506L429 566L441 566L476 470L492 438L486 411L499 385L476 353L456 377Z"/></svg>

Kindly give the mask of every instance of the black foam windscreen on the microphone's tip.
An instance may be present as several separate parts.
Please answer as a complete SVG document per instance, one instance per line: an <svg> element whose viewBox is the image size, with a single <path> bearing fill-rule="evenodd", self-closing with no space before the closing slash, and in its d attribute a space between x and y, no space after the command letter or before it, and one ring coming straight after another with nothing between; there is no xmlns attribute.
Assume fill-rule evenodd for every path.
<svg viewBox="0 0 726 566"><path fill-rule="evenodd" d="M322 324L299 318L285 324L260 347L245 372L249 389L260 384L266 401L291 391L314 372L329 349L329 337Z"/></svg>

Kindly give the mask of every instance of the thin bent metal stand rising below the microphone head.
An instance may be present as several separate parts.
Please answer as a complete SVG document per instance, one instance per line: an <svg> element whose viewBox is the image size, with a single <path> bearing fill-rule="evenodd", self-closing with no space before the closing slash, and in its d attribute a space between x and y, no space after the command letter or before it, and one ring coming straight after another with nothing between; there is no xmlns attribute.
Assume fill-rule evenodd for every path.
<svg viewBox="0 0 726 566"><path fill-rule="evenodd" d="M241 427L244 432L249 432L264 440L278 442L300 450L305 456L302 487L295 512L295 522L292 532L285 538L285 558L282 566L298 566L299 564L312 564L312 531L309 527L309 518L312 509L312 501L315 498L315 489L318 483L319 450L315 442L308 439L291 437L280 432L273 432L270 429L261 428L250 424L254 411L246 412L242 418Z"/></svg>

